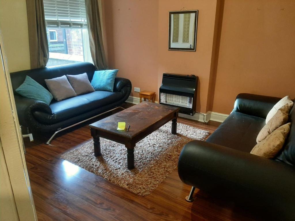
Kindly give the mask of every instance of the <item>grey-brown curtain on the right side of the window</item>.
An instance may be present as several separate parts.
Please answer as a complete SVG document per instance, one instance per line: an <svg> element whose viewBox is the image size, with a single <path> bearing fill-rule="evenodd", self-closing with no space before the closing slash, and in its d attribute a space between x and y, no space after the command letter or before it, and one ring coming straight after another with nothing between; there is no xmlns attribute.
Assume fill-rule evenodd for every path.
<svg viewBox="0 0 295 221"><path fill-rule="evenodd" d="M101 22L97 0L85 0L89 45L96 70L107 69L104 45L102 42Z"/></svg>

